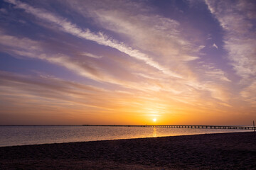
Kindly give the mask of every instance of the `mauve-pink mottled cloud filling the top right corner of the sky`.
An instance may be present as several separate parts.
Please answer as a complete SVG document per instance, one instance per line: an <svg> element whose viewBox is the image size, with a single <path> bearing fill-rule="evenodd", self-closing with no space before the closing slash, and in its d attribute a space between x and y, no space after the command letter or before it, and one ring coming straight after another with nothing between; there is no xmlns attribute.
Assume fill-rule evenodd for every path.
<svg viewBox="0 0 256 170"><path fill-rule="evenodd" d="M256 75L255 3L252 1L208 1L211 13L225 30L224 47L228 59L242 79ZM228 8L228 10L227 10Z"/></svg>

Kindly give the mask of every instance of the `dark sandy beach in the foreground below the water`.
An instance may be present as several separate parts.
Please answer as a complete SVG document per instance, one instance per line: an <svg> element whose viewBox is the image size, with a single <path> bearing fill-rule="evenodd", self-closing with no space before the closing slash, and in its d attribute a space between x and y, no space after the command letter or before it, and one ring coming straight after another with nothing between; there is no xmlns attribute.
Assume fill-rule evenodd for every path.
<svg viewBox="0 0 256 170"><path fill-rule="evenodd" d="M0 147L0 169L256 169L256 132Z"/></svg>

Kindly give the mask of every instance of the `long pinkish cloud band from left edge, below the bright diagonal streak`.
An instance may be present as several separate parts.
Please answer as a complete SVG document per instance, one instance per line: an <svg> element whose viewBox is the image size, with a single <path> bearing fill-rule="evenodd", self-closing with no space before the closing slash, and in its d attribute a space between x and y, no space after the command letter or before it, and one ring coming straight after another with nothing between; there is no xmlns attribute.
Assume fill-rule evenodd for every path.
<svg viewBox="0 0 256 170"><path fill-rule="evenodd" d="M95 57L89 57L89 59L92 58L93 60L88 60L88 58L85 57L68 56L62 54L60 51L58 51L57 54L54 54L54 52L49 53L47 48L48 46L45 47L43 42L31 40L28 38L16 38L12 35L5 35L3 32L0 32L0 35L0 45L2 45L1 50L9 53L9 55L12 55L14 57L18 56L38 59L50 62L52 64L57 64L69 69L72 72L75 72L81 77L92 79L102 84L109 83L118 85L115 87L116 89L130 89L132 91L137 91L137 93L138 91L147 91L148 93L161 90L169 91L170 93L176 93L177 91L174 90L172 87L165 87L167 86L166 82L159 83L157 81L157 79L159 79L159 74L156 74L154 72L151 72L153 76L145 77L142 76L144 75L142 73L134 73L135 75L133 75L133 69L129 70L129 72L125 71L124 67L129 67L129 65L127 65L127 62L124 62L124 66L115 66L114 69L112 69L106 65L106 62L98 61L102 58L95 59ZM67 49L68 47L69 46L65 47L65 49ZM81 54L81 52L76 53ZM88 54L92 55L86 52L86 55ZM132 63L132 65L134 67L134 63ZM141 68L141 65L137 65L138 67L135 67L134 69L136 70L136 72L139 72L138 68ZM115 77L114 74L119 75Z"/></svg>

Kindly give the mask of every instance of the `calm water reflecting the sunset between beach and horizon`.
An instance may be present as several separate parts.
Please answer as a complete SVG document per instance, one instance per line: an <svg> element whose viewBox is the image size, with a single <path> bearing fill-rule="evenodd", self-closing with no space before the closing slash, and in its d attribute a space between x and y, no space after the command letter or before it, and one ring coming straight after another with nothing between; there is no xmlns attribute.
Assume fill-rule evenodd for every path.
<svg viewBox="0 0 256 170"><path fill-rule="evenodd" d="M117 140L139 137L193 135L252 130L88 127L88 126L0 126L0 147L45 143Z"/></svg>

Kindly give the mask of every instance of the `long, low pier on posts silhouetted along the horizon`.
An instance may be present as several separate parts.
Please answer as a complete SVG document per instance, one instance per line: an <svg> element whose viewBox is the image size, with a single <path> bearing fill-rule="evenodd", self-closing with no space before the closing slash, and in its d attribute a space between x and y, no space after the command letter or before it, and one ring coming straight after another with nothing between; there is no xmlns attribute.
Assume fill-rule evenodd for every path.
<svg viewBox="0 0 256 170"><path fill-rule="evenodd" d="M253 127L253 126L231 126L231 125L83 125L83 126L256 130L256 127Z"/></svg>

